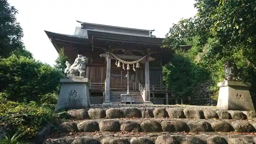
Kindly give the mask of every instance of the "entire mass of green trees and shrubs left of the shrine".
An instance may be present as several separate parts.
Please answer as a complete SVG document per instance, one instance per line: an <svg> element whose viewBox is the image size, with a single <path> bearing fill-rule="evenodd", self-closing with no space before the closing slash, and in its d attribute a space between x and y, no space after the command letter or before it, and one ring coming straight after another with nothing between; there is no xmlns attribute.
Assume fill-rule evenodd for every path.
<svg viewBox="0 0 256 144"><path fill-rule="evenodd" d="M54 122L61 120L53 109L63 75L59 69L35 61L25 49L16 14L7 0L0 0L0 123L14 137L1 139L3 144L31 140L41 126L59 125ZM21 135L15 136L17 132Z"/></svg>

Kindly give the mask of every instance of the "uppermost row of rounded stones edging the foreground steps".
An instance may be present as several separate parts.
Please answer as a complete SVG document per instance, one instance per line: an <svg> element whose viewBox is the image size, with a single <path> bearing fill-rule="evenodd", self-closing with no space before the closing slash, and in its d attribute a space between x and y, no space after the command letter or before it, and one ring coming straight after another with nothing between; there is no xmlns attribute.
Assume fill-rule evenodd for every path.
<svg viewBox="0 0 256 144"><path fill-rule="evenodd" d="M120 107L125 105L120 105ZM127 106L127 105L126 105ZM128 105L132 106L132 105ZM137 106L137 105L135 105ZM142 106L142 105L141 105ZM246 120L255 117L250 111L234 110L198 110L198 109L173 109L173 108L103 108L99 109L72 109L67 113L75 119L97 118L191 118L191 119L220 119L220 120ZM192 107L193 108L193 107Z"/></svg>

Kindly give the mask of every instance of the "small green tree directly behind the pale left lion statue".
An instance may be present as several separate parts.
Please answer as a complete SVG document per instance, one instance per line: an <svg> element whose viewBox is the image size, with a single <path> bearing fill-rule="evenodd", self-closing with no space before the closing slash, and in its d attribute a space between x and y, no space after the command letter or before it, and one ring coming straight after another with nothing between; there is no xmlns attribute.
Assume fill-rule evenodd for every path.
<svg viewBox="0 0 256 144"><path fill-rule="evenodd" d="M69 58L67 56L65 56L64 48L61 48L60 52L59 52L59 56L55 60L56 65L54 65L54 67L57 69L60 69L62 71L63 75L65 75L64 70L67 67L65 64L66 61L69 61Z"/></svg>

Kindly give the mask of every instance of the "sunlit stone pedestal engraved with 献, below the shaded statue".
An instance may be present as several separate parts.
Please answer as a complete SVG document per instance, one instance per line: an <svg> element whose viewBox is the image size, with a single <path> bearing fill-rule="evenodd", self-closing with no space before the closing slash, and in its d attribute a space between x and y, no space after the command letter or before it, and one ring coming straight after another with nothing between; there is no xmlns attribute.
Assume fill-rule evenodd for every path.
<svg viewBox="0 0 256 144"><path fill-rule="evenodd" d="M217 108L224 110L253 111L255 109L249 92L251 83L225 81L218 83Z"/></svg>

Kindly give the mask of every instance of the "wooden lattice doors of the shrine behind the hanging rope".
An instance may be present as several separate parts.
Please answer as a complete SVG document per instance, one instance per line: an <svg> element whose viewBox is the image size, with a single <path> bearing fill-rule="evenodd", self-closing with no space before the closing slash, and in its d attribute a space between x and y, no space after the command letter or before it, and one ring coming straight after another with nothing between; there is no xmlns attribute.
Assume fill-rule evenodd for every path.
<svg viewBox="0 0 256 144"><path fill-rule="evenodd" d="M111 88L127 88L127 70L122 68L111 68L110 69L110 87ZM135 83L135 72L129 70L129 89L133 88L133 83Z"/></svg>

